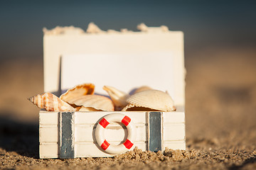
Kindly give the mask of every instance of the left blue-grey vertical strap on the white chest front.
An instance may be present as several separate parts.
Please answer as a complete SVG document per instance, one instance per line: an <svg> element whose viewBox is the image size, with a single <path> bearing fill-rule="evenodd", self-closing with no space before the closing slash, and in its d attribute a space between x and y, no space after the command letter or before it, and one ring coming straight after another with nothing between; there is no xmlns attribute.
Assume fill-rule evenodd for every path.
<svg viewBox="0 0 256 170"><path fill-rule="evenodd" d="M61 159L74 158L74 113L73 112L60 112L59 113L59 136L60 147L59 153Z"/></svg>

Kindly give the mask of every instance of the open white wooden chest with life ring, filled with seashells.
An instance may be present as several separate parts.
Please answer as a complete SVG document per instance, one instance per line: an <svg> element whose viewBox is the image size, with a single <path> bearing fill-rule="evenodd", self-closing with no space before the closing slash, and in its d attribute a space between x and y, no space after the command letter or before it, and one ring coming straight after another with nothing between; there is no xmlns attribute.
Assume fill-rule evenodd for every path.
<svg viewBox="0 0 256 170"><path fill-rule="evenodd" d="M41 159L186 149L183 33L138 29L44 29L43 89L73 111L39 112Z"/></svg>

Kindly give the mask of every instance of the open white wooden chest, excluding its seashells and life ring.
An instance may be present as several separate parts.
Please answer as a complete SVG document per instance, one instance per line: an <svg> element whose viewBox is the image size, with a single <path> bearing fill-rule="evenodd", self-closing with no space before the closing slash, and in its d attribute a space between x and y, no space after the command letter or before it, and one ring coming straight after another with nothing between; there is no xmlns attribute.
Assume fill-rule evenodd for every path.
<svg viewBox="0 0 256 170"><path fill-rule="evenodd" d="M174 98L177 111L156 113L161 117L159 129L156 130L159 134L150 134L153 132L150 127L154 124L149 123L149 117L154 113L118 113L128 115L136 126L137 135L132 148L151 151L164 150L165 147L186 149L182 32L53 32L46 32L43 38L44 91L60 95L65 89L85 82L94 83L95 92L103 95L107 95L102 91L103 85L114 86L122 91L142 85L167 90ZM106 79L107 75L111 78ZM65 131L63 135L66 126L61 123L63 113L40 111L40 158L112 157L114 154L108 154L95 142L95 126L103 116L111 113L68 113L73 116L73 120L70 120L72 132L68 136ZM110 123L105 130L105 137L111 145L118 145L126 139L127 128L119 123ZM159 145L156 149L151 148L154 137L161 138L154 142ZM68 145L67 148L63 140L71 140L64 144Z"/></svg>

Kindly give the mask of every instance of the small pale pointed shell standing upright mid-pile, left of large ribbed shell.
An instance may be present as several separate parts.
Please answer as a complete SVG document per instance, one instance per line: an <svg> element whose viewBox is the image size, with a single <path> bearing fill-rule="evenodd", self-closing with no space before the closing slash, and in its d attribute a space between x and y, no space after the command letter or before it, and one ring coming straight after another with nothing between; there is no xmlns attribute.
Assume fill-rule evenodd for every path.
<svg viewBox="0 0 256 170"><path fill-rule="evenodd" d="M112 86L103 86L103 89L110 95L116 110L120 111L124 106L127 106L128 103L126 100L129 97L129 94L119 91Z"/></svg>

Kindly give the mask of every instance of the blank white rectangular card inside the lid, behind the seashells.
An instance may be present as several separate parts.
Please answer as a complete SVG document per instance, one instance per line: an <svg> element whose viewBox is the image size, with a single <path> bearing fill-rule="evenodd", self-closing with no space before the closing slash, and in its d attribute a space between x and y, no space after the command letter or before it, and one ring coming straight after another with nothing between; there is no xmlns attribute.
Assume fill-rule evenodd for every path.
<svg viewBox="0 0 256 170"><path fill-rule="evenodd" d="M147 85L168 91L176 101L174 62L171 52L63 55L61 89L90 82L96 93L107 95L102 86L129 92Z"/></svg>

